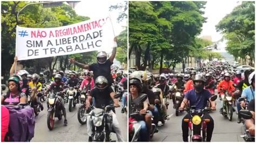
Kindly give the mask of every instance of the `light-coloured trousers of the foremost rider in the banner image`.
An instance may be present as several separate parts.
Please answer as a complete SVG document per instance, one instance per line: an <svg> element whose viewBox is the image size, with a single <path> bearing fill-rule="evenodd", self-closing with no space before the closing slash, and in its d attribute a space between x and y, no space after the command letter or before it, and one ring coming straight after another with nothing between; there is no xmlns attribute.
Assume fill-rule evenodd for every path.
<svg viewBox="0 0 256 143"><path fill-rule="evenodd" d="M91 114L91 112L90 112L90 114ZM119 123L118 123L118 120L117 120L117 116L112 110L110 111L110 113L111 113L112 118L113 118L112 126L113 126L113 130L116 132L117 140L118 140L118 142L124 142L124 139L122 137L121 128L119 127ZM90 137L92 136L91 116L90 115L87 116L87 134Z"/></svg>

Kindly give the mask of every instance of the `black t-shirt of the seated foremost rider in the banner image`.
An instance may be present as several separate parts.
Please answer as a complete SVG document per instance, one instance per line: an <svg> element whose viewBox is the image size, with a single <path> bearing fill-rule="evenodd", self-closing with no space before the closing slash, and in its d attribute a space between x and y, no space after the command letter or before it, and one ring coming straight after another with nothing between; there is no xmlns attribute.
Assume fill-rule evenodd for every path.
<svg viewBox="0 0 256 143"><path fill-rule="evenodd" d="M100 91L98 88L93 88L90 95L95 98L95 107L103 109L105 106L113 103L113 99L110 96L111 92L114 92L111 87L107 87L103 91Z"/></svg>

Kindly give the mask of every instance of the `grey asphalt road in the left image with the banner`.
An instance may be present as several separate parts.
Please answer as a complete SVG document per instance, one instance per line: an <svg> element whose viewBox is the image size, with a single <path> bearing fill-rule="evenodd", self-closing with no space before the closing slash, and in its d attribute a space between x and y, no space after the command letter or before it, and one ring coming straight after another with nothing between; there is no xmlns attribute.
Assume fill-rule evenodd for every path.
<svg viewBox="0 0 256 143"><path fill-rule="evenodd" d="M68 125L65 126L63 124L64 118L62 120L55 118L55 126L52 131L50 131L47 127L46 101L43 103L43 105L44 110L41 111L36 117L35 136L31 141L88 141L86 124L81 125L77 119L77 110L79 104L76 105L76 108L74 108L72 112L69 112L68 103L65 103ZM122 128L123 138L125 141L127 141L127 116L122 114L120 110L120 108L116 109L117 119L120 127ZM112 133L111 135L111 139L117 141L116 134Z"/></svg>

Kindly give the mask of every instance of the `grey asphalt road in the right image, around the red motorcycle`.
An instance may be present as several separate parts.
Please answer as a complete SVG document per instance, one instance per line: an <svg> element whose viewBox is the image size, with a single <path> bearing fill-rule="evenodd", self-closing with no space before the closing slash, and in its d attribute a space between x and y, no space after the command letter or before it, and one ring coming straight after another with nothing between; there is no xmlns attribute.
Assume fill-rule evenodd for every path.
<svg viewBox="0 0 256 143"><path fill-rule="evenodd" d="M177 117L175 115L175 109L172 108L172 100L169 99L170 105L167 113L171 116L170 120L166 121L164 126L159 127L159 132L154 134L151 141L183 141L182 130L181 130L181 120L186 115L186 112L180 113ZM220 100L217 98L217 110L212 111L210 116L214 120L214 130L212 135L212 140L215 142L244 142L244 139L240 137L242 135L242 124L237 123L237 114L233 112L233 119L229 121L226 117L223 117L220 112ZM235 109L237 109L235 107Z"/></svg>

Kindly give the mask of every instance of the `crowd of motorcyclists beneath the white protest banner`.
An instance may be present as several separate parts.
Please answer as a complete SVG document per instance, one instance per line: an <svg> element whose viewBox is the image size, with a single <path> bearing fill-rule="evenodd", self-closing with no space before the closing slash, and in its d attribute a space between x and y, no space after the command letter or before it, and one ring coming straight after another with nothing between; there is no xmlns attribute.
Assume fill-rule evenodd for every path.
<svg viewBox="0 0 256 143"><path fill-rule="evenodd" d="M116 42L117 39L114 38L114 41ZM86 102L80 104L79 108L82 108L82 110L78 111L82 112L82 116L84 116L85 120L83 120L84 122L82 121L82 123L86 123L87 120L87 134L89 135L89 141L103 141L104 138L106 138L106 141L107 139L109 141L111 140L107 135L105 137L98 135L98 129L95 130L95 128L100 127L100 125L105 127L105 123L97 123L98 119L96 118L98 116L95 114L99 113L99 111L104 113L104 116L107 116L107 118L110 119L104 120L107 124L111 123L111 126L113 127L114 131L111 131L112 128L110 128L111 130L109 131L116 133L118 141L124 141L114 108L120 106L117 99L120 98L120 101L123 102L122 113L125 111L127 112L127 80L123 71L111 69L115 55L116 47L113 47L109 59L107 59L106 52L98 52L96 55L97 62L92 65L84 65L71 58L69 59L70 63L85 70L80 73L76 71L65 73L62 70L55 71L49 80L46 80L43 73L39 73L39 75L36 73L30 74L26 70L19 70L14 74L14 65L17 63L17 57L15 57L15 62L11 67L10 78L8 80L9 90L6 94L2 94L2 105L5 105L2 106L2 111L4 111L3 108L8 107L9 105L20 106L22 109L24 109L24 106L31 106L37 116L40 111L46 108L42 104L42 101L44 101L42 98L45 96L45 98L47 98L46 102L48 108L48 128L49 130L52 130L55 117L62 119L62 116L64 116L64 125L68 124L65 103L72 102L75 106L80 102L79 99L81 99L82 103L82 96L84 94ZM112 107L110 108L111 110L109 110L110 106ZM92 110L89 111L89 108ZM79 112L78 114L80 114ZM7 115L6 112L2 112L2 117L4 117L3 113ZM2 118L2 123L8 124L9 121L11 123L11 118L5 119L8 121L4 122ZM2 125L2 127L3 126L4 125ZM9 124L9 128L10 126L11 125ZM8 125L5 125L4 127L5 128L2 128L2 137L5 137L4 141L30 141L32 138L15 140L14 135L10 135L13 131L8 131ZM35 123L33 123L33 127L35 128ZM106 129L102 127L100 127L100 130L102 132L106 131Z"/></svg>

